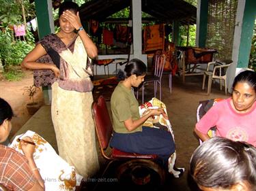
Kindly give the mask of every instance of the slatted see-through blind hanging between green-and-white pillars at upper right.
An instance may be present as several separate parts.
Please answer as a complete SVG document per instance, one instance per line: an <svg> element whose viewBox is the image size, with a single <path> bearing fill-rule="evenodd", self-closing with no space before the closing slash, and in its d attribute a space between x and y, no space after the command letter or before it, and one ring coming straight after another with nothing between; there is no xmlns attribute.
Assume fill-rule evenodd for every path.
<svg viewBox="0 0 256 191"><path fill-rule="evenodd" d="M218 50L218 58L231 59L238 0L208 0L206 47Z"/></svg>

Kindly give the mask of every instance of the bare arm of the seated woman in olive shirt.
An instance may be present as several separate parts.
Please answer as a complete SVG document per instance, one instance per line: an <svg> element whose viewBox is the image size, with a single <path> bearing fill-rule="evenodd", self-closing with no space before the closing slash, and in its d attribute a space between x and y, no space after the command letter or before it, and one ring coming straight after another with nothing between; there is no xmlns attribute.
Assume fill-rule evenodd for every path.
<svg viewBox="0 0 256 191"><path fill-rule="evenodd" d="M138 126L143 124L147 118L150 118L152 116L159 116L160 114L164 113L164 109L151 109L147 114L143 115L139 120L132 120L132 118L129 118L128 120L124 121L124 126L126 126L128 131L133 131Z"/></svg>

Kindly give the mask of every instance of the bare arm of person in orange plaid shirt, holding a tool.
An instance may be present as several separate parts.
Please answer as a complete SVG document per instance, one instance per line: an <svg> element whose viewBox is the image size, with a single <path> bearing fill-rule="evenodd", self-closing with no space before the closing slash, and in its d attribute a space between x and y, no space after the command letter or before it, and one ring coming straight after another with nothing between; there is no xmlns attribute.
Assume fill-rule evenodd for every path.
<svg viewBox="0 0 256 191"><path fill-rule="evenodd" d="M23 139L26 141L33 142L33 139L31 139L30 137L25 137ZM20 146L21 146L21 150L23 150L23 153L29 162L29 167L30 167L31 171L36 178L35 184L30 189L30 191L44 190L44 180L42 179L42 177L40 175L40 172L39 172L40 169L38 169L38 167L36 167L35 160L33 160L33 152L35 152L35 145L25 143L23 140L21 140Z"/></svg>

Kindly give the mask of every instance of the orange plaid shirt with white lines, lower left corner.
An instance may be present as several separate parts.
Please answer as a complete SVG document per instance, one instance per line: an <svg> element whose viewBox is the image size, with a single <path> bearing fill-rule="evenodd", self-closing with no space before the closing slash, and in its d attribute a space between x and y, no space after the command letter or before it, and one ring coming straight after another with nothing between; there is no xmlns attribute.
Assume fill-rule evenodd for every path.
<svg viewBox="0 0 256 191"><path fill-rule="evenodd" d="M27 158L0 145L0 183L9 190L29 190L35 184Z"/></svg>

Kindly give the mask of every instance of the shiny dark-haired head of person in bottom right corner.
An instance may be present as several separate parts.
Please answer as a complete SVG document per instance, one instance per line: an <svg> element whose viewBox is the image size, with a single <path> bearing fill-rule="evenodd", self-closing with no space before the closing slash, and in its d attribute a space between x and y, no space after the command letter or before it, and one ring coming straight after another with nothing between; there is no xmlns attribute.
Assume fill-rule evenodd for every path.
<svg viewBox="0 0 256 191"><path fill-rule="evenodd" d="M256 148L246 142L213 137L193 153L190 175L203 191L256 190Z"/></svg>

